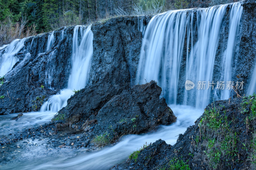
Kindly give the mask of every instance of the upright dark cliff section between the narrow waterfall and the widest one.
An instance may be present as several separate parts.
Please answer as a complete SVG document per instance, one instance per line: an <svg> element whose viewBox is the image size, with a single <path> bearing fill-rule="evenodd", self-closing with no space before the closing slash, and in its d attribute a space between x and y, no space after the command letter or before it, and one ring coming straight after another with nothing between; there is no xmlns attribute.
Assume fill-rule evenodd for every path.
<svg viewBox="0 0 256 170"><path fill-rule="evenodd" d="M143 20L143 25L140 25L139 20ZM142 43L139 27L146 26L149 20L148 16L119 17L92 25L94 36L90 85L116 67L116 60L126 62L130 83L134 85Z"/></svg>

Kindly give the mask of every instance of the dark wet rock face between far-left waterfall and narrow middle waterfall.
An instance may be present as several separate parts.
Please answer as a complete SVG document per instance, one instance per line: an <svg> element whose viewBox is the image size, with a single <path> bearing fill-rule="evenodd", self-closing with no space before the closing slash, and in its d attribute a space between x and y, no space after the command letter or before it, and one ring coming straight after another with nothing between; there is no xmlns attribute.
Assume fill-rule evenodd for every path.
<svg viewBox="0 0 256 170"><path fill-rule="evenodd" d="M48 51L46 45L49 33L26 39L22 53L16 55L20 62L4 76L5 82L0 88L0 94L5 97L1 100L0 115L37 111L47 97L66 87L73 29L74 27L68 27L54 32L54 42ZM65 36L61 40L62 30ZM50 83L47 82L49 77L46 75L49 72L52 73Z"/></svg>

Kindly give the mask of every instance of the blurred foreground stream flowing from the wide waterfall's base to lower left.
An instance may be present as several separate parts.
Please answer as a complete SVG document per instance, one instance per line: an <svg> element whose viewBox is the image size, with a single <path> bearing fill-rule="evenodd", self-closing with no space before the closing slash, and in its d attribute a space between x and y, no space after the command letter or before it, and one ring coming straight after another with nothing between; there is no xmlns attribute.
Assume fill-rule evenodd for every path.
<svg viewBox="0 0 256 170"><path fill-rule="evenodd" d="M177 116L177 122L169 126L159 126L157 130L142 135L127 135L113 146L89 152L86 149L54 148L44 141L20 141L16 145L15 159L4 162L0 168L4 169L109 169L116 163L121 163L136 149L144 144L163 139L168 144L175 144L180 133L184 133L188 126L203 113L203 109L195 109L185 105L170 105ZM33 144L28 147L28 143ZM21 149L22 148L22 149ZM20 152L17 152L20 151ZM26 161L24 161L26 160Z"/></svg>

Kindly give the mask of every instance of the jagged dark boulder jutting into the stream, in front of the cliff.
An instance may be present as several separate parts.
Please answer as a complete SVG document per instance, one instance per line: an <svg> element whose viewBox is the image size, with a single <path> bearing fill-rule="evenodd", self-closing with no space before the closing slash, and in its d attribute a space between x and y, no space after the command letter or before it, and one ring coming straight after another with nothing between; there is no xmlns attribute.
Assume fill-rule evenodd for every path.
<svg viewBox="0 0 256 170"><path fill-rule="evenodd" d="M100 109L94 133L139 134L175 122L176 117L165 99L159 98L160 94L161 88L155 81L124 90Z"/></svg>

